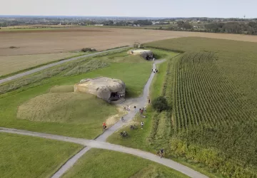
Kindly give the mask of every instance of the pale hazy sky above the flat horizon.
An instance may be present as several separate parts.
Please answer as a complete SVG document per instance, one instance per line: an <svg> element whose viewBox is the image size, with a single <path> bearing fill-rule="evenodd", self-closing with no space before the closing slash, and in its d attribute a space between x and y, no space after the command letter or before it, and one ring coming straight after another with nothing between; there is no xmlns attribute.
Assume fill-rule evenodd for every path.
<svg viewBox="0 0 257 178"><path fill-rule="evenodd" d="M257 17L257 0L0 0L0 4L0 15Z"/></svg>

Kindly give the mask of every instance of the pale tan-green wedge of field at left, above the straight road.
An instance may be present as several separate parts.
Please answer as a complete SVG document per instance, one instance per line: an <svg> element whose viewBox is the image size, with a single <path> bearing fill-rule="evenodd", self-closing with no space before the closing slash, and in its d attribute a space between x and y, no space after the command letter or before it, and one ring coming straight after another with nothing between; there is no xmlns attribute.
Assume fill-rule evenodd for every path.
<svg viewBox="0 0 257 178"><path fill-rule="evenodd" d="M79 56L82 53L48 53L20 56L0 56L0 76L14 73L26 68L32 68L44 63L59 61L71 56Z"/></svg>

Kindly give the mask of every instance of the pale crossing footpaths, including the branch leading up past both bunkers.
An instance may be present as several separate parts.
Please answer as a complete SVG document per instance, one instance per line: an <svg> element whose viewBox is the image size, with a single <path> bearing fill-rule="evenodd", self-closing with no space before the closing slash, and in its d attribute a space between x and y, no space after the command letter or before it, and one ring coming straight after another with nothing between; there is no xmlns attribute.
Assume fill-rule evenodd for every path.
<svg viewBox="0 0 257 178"><path fill-rule="evenodd" d="M156 63L162 63L162 61L156 61L153 63L153 68L156 68ZM105 150L113 150L116 152L124 152L128 153L131 155L136 155L138 157L142 157L144 159L149 159L153 162L157 162L159 164L163 164L166 167L171 167L172 169L177 170L178 172L182 172L183 174L188 175L189 177L194 177L194 178L206 178L205 175L194 171L193 169L184 166L183 164L179 164L178 162L174 162L171 159L166 159L166 158L160 158L157 155L153 155L150 152L144 152L141 150L136 150L133 148L129 147L123 147L121 145L114 145L111 143L106 142L107 137L109 137L111 134L119 130L121 127L124 125L127 125L130 120L133 119L133 117L136 115L136 112L133 110L133 106L136 105L136 108L142 108L147 104L148 101L148 94L151 86L151 82L153 80L154 73L151 73L150 78L148 79L145 87L143 88L143 95L139 98L134 98L131 100L127 100L125 103L122 103L122 105L131 105L131 112L129 112L127 115L124 116L125 122L116 122L115 125L112 127L109 127L106 132L104 132L102 135L96 138L96 140L86 140L86 139L81 139L81 138L74 138L74 137L65 137L61 135L51 135L51 134L46 134L46 133L40 133L40 132L31 132L31 131L26 131L26 130L16 130L16 129L9 129L9 128L4 128L0 127L0 132L7 132L7 133L14 133L14 134L19 134L19 135L29 135L29 136L34 136L34 137L43 137L46 139L51 139L51 140L60 140L64 142L73 142L76 144L84 145L84 149L82 149L80 152L78 152L74 157L71 157L53 176L52 178L57 178L61 177L68 169L70 169L76 161L82 157L87 151L89 151L92 147L94 148L100 148L100 149L105 149Z"/></svg>

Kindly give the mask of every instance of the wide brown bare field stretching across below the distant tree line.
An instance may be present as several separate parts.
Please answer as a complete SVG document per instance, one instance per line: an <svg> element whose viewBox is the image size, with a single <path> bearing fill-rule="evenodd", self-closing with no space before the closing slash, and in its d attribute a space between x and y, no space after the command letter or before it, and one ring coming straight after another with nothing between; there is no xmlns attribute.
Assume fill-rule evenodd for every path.
<svg viewBox="0 0 257 178"><path fill-rule="evenodd" d="M257 42L257 36L185 31L156 31L130 28L79 27L41 31L0 31L0 56L59 53L81 48L106 50L134 42L146 43L167 38L199 36ZM9 48L16 46L18 48Z"/></svg>

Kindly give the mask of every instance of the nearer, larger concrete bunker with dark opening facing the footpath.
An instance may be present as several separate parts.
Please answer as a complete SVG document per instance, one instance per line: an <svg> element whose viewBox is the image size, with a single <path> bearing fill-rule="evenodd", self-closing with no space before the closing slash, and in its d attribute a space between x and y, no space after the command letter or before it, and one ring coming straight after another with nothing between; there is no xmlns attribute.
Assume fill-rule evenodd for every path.
<svg viewBox="0 0 257 178"><path fill-rule="evenodd" d="M125 100L126 85L114 78L86 78L74 85L74 92L90 93L108 103L121 103Z"/></svg>

